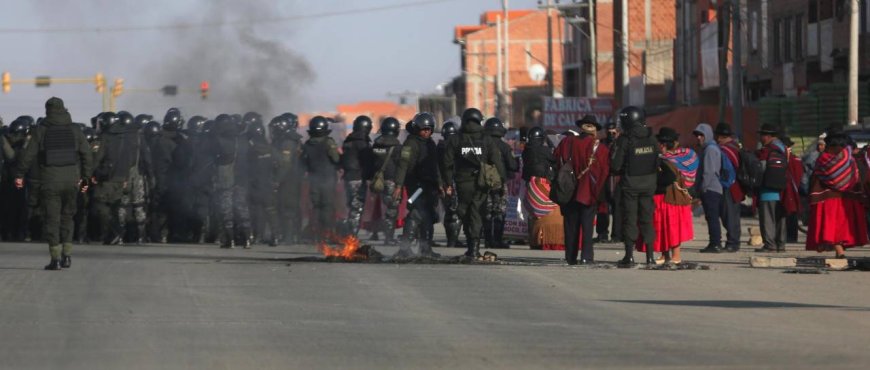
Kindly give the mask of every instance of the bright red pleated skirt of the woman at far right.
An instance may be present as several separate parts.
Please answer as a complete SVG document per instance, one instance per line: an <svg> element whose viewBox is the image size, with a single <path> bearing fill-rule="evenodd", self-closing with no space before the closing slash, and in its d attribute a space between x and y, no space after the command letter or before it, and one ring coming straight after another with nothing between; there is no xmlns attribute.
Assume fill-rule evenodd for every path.
<svg viewBox="0 0 870 370"><path fill-rule="evenodd" d="M844 248L867 244L867 221L861 202L832 198L810 205L807 250L829 251L836 244Z"/></svg>

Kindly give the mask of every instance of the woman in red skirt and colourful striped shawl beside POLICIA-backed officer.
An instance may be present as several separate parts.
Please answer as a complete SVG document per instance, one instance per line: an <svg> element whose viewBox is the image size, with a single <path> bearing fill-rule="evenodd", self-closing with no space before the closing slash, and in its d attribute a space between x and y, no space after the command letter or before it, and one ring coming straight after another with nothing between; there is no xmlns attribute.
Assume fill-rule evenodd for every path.
<svg viewBox="0 0 870 370"><path fill-rule="evenodd" d="M695 237L692 227L692 196L688 189L695 184L699 159L692 149L679 147L679 134L670 127L662 127L656 138L659 140L663 159L653 197L653 226L656 230L653 246L656 252L662 254L656 264L678 264L682 262L680 245ZM638 243L636 249L646 251L643 243Z"/></svg>

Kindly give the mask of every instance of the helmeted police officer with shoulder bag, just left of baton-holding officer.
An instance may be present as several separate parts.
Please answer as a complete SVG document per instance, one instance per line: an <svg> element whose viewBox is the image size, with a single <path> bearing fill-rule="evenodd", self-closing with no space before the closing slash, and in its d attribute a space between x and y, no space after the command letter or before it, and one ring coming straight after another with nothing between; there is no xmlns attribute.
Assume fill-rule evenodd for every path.
<svg viewBox="0 0 870 370"><path fill-rule="evenodd" d="M381 202L384 204L384 220L380 230L375 230L373 237L376 237L379 231L384 232L384 244L396 244L396 219L399 217L399 202L401 199L393 197L393 192L396 191L396 170L399 166L399 158L402 151L402 143L399 141L399 130L402 125L399 120L393 117L387 117L381 122L380 136L375 139L372 145L374 154L374 163L372 168L375 171L374 176L383 177L384 188L380 192Z"/></svg>

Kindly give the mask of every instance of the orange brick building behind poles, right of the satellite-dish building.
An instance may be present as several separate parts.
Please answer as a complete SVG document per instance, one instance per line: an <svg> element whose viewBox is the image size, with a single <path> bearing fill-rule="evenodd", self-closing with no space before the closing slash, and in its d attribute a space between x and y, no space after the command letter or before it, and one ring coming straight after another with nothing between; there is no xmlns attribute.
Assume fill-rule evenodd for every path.
<svg viewBox="0 0 870 370"><path fill-rule="evenodd" d="M621 42L619 0L585 0L557 6L566 17L565 95L616 95L614 50ZM594 12L594 13L590 13ZM625 104L671 105L676 0L628 0L628 71ZM591 28L592 20L596 27ZM591 36L595 35L595 52ZM593 76L592 61L596 60ZM597 86L593 84L594 81Z"/></svg>

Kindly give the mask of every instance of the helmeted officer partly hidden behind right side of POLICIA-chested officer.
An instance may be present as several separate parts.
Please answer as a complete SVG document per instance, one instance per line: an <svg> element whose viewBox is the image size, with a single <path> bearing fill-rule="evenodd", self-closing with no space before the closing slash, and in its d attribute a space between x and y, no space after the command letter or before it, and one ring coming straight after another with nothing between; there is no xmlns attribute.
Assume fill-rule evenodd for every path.
<svg viewBox="0 0 870 370"><path fill-rule="evenodd" d="M504 142L507 128L498 118L490 118L484 122L483 129L493 138L501 154L506 173L501 179L501 189L489 192L486 198L486 213L483 216L483 235L486 248L509 248L504 242L504 223L507 215L507 181L519 172L520 164L514 156L513 148Z"/></svg>

